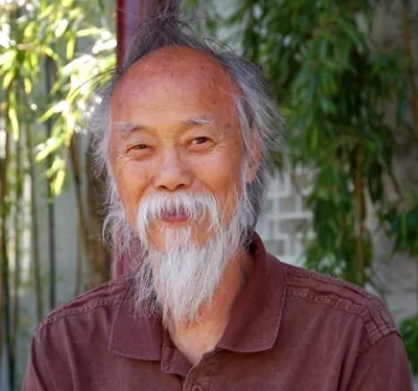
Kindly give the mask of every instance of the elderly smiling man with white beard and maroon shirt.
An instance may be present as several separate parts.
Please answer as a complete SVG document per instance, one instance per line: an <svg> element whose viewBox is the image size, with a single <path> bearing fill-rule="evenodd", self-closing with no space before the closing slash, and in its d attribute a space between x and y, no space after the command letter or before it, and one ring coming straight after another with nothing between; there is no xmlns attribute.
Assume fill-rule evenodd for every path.
<svg viewBox="0 0 418 391"><path fill-rule="evenodd" d="M101 98L107 228L136 267L38 326L25 390L412 390L383 304L254 232L280 116L250 64L158 20Z"/></svg>

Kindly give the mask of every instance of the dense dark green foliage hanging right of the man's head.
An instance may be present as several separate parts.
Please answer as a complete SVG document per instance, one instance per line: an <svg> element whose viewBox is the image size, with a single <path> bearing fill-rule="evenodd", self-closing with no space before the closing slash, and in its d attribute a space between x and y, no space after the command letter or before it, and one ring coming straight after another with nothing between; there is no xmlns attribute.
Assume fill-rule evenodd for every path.
<svg viewBox="0 0 418 391"><path fill-rule="evenodd" d="M359 285L371 277L368 200L382 217L392 208L383 182L394 177L397 144L388 106L402 120L407 90L402 50L373 45L378 5L237 0L232 13L215 16L276 93L291 167L311 171L306 265Z"/></svg>

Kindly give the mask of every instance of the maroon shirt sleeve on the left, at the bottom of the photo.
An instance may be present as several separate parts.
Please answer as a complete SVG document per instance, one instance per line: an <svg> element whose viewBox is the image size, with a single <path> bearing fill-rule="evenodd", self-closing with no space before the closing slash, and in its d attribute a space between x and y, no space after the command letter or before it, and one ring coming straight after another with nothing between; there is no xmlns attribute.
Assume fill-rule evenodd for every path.
<svg viewBox="0 0 418 391"><path fill-rule="evenodd" d="M22 391L54 391L55 386L48 370L44 347L32 338L30 357L23 379Z"/></svg>

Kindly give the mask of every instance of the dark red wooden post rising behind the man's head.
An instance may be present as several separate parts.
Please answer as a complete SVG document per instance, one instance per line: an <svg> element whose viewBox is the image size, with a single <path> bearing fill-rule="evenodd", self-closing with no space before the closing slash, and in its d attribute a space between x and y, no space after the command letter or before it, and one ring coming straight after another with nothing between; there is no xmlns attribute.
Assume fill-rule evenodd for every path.
<svg viewBox="0 0 418 391"><path fill-rule="evenodd" d="M138 26L170 3L178 5L180 2L178 0L116 0L117 64L123 63L126 49ZM134 249L132 252L135 253ZM132 259L127 253L118 251L117 246L115 246L113 258L113 277L124 276L132 271Z"/></svg>

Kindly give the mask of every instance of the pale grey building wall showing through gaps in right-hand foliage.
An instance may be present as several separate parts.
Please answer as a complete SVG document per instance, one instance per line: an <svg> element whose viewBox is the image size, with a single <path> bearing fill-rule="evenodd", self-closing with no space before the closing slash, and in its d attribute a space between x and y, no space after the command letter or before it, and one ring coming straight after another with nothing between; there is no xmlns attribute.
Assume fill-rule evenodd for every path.
<svg viewBox="0 0 418 391"><path fill-rule="evenodd" d="M269 252L286 263L303 266L303 233L311 213L303 207L303 195L309 186L309 175L303 170L271 177L269 191L257 231ZM392 242L376 223L368 219L374 243L372 293L387 302L394 318L399 321L418 311L418 264L414 259L392 255Z"/></svg>

